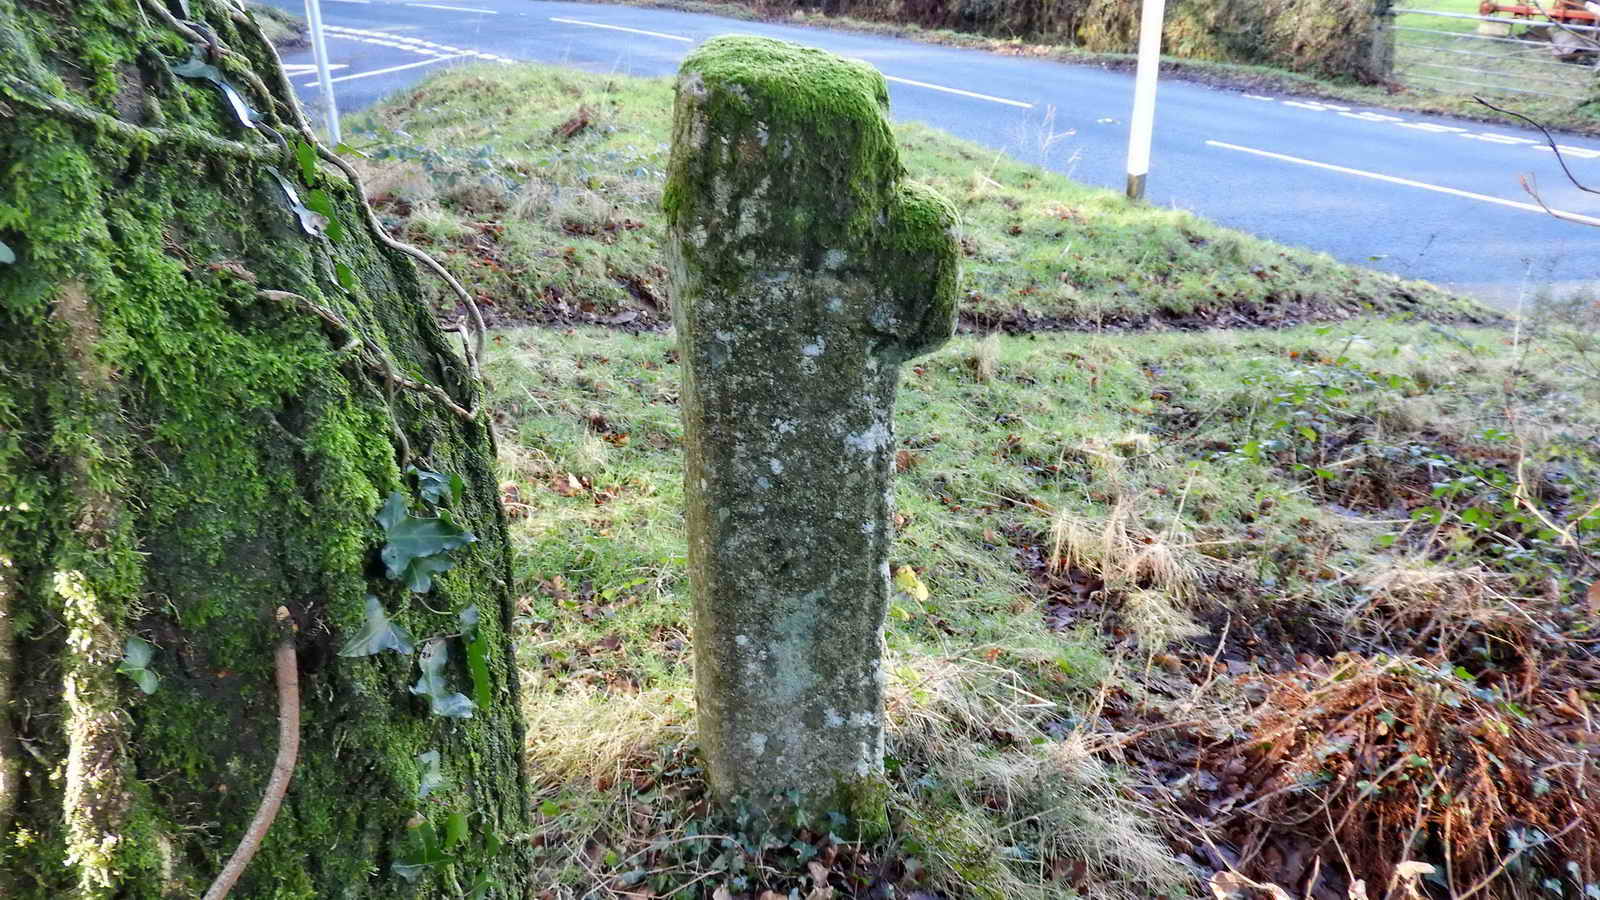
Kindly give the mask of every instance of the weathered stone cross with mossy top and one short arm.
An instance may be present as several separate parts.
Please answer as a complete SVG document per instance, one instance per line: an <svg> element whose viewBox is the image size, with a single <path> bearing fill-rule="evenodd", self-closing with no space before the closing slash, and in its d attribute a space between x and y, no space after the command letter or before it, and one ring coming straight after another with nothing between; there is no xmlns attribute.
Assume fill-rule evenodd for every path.
<svg viewBox="0 0 1600 900"><path fill-rule="evenodd" d="M720 37L678 72L667 211L714 793L882 818L899 365L955 327L955 210L864 62Z"/></svg>

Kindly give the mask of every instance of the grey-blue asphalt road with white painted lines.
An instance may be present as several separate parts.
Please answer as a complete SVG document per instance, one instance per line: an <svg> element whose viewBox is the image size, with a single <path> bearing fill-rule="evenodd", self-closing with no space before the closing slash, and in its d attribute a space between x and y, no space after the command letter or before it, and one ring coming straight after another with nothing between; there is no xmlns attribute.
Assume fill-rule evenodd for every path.
<svg viewBox="0 0 1600 900"><path fill-rule="evenodd" d="M302 13L298 0L269 0ZM667 75L718 34L778 37L866 59L891 114L1120 191L1133 77L1090 66L667 10L547 0L322 0L341 112L440 67L538 61ZM315 102L309 50L285 58ZM528 98L530 104L546 98ZM1054 139L1051 139L1054 138ZM1562 136L1600 184L1600 141ZM1570 186L1538 131L1258 96L1163 80L1147 200L1342 261L1514 304L1600 274L1600 227L1557 221L1523 194L1600 226L1600 195Z"/></svg>

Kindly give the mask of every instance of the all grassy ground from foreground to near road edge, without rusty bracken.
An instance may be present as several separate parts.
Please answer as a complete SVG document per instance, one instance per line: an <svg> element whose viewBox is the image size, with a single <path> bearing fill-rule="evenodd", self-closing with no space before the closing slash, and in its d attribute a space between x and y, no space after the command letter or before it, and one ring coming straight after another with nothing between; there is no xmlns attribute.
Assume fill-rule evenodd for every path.
<svg viewBox="0 0 1600 900"><path fill-rule="evenodd" d="M1562 714L1565 687L1506 692L1539 658L1592 657L1592 298L1538 327L1469 327L1426 285L901 127L907 168L962 207L970 320L1085 331L965 336L906 367L891 564L928 593L896 591L886 633L890 833L746 833L710 804L694 751L674 340L568 327L659 322L669 303L669 99L659 80L472 69L357 125L394 229L443 255L501 322L560 325L499 330L485 360L546 895L771 900L813 895L819 878L834 897L1203 895L1178 854L1200 854L1186 815L1218 794L1176 775L1251 753L1278 714L1262 673L1315 681L1410 653L1472 682L1475 701ZM584 125L554 133L568 122ZM1053 136L1042 119L1016 152L1070 152ZM1307 309L1341 320L1109 328ZM1381 733L1405 759L1405 735ZM1331 748L1304 765L1371 759ZM1568 796L1528 794L1518 809ZM1530 854L1533 884L1565 871Z"/></svg>

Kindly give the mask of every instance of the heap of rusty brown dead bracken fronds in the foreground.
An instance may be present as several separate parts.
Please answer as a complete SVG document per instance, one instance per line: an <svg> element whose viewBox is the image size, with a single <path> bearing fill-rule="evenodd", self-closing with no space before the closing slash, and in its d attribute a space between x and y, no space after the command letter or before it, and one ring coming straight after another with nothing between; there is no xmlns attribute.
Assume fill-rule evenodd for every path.
<svg viewBox="0 0 1600 900"><path fill-rule="evenodd" d="M1600 881L1595 663L1525 663L1494 689L1416 657L1341 655L1266 677L1248 740L1210 762L1254 798L1219 818L1242 847L1238 868L1294 836L1373 897L1398 889L1408 860L1442 860L1450 897L1502 895L1512 863L1573 894Z"/></svg>

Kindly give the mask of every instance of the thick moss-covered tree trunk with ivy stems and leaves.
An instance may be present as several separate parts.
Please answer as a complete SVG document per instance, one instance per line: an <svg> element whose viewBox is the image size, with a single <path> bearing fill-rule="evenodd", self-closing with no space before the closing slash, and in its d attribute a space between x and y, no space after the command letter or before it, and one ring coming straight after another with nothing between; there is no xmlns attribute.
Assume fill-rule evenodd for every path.
<svg viewBox="0 0 1600 900"><path fill-rule="evenodd" d="M205 892L274 769L285 634L299 759L234 895L528 892L493 436L320 157L229 0L0 0L0 897ZM390 580L397 492L477 541ZM443 690L352 650L387 634L368 596Z"/></svg>

